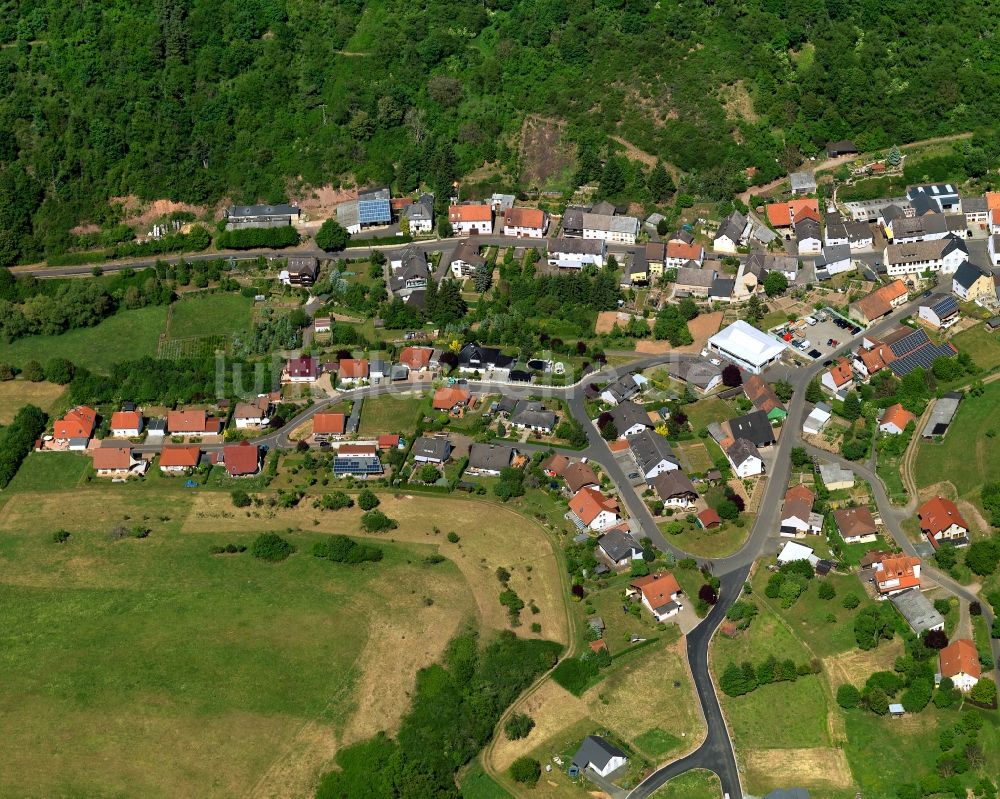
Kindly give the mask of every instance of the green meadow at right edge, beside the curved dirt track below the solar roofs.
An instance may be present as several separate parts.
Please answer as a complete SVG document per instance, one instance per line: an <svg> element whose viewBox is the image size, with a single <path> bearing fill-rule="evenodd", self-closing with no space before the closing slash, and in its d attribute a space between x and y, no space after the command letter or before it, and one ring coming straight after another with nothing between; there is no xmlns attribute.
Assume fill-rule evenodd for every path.
<svg viewBox="0 0 1000 799"><path fill-rule="evenodd" d="M921 441L914 476L921 488L949 481L959 498L982 510L979 488L989 475L1000 474L1000 447L988 431L1000 431L1000 381L986 385L982 396L966 396L940 444Z"/></svg>

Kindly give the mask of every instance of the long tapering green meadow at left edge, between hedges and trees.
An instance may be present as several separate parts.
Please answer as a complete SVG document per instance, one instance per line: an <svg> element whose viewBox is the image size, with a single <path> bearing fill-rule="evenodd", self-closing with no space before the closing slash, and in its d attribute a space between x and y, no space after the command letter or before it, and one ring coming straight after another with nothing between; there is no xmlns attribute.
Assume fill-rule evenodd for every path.
<svg viewBox="0 0 1000 799"><path fill-rule="evenodd" d="M0 342L0 361L24 366L30 360L44 364L52 358L66 358L77 366L107 371L119 361L156 355L166 319L163 305L122 311L99 325L70 330L61 336L28 336L9 344Z"/></svg>

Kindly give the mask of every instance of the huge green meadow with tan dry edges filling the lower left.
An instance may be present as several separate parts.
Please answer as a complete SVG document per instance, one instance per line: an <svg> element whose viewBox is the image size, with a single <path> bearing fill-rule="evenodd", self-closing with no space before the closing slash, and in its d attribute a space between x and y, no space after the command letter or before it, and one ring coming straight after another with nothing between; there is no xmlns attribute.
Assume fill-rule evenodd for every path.
<svg viewBox="0 0 1000 799"><path fill-rule="evenodd" d="M184 532L192 512L182 489L131 486L0 511L0 795L311 795L339 746L393 730L416 669L475 614L429 547L342 566L310 531L280 564L211 556L256 531ZM125 519L150 536L110 540Z"/></svg>

